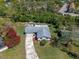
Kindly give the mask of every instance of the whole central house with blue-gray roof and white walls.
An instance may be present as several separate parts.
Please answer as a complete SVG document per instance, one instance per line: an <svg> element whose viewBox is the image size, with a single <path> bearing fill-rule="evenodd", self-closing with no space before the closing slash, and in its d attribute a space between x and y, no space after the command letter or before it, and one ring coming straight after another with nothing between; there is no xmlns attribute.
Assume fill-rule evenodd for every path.
<svg viewBox="0 0 79 59"><path fill-rule="evenodd" d="M25 28L26 34L34 34L37 40L50 40L51 35L48 25L31 24Z"/></svg>

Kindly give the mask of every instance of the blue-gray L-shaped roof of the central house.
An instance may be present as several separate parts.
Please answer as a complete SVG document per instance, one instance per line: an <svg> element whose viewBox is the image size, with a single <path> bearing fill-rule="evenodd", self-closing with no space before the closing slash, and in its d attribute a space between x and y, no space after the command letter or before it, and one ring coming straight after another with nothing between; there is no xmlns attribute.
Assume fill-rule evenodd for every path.
<svg viewBox="0 0 79 59"><path fill-rule="evenodd" d="M25 28L26 33L37 33L37 38L51 38L49 28L46 27L34 27L34 26L28 26Z"/></svg>

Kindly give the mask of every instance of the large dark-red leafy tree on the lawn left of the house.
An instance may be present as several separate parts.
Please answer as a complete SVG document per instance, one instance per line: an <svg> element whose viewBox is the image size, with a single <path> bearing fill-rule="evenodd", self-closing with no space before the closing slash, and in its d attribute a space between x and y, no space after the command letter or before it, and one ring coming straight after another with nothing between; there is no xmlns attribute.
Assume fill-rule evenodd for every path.
<svg viewBox="0 0 79 59"><path fill-rule="evenodd" d="M14 47L20 42L20 37L16 34L13 28L8 28L7 34L5 36L4 43L9 48Z"/></svg>

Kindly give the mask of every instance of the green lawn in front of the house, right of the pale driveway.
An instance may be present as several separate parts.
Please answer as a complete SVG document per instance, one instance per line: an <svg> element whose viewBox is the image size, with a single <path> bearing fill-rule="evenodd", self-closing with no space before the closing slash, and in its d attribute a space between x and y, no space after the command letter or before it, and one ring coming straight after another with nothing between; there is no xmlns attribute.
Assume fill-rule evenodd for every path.
<svg viewBox="0 0 79 59"><path fill-rule="evenodd" d="M35 43L35 48L40 59L71 59L65 52L51 46L41 47Z"/></svg>

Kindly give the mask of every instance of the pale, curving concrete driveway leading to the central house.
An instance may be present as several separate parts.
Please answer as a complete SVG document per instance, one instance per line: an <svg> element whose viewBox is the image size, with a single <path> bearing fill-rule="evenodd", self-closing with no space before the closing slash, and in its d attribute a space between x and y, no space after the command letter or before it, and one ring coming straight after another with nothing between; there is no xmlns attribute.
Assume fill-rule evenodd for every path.
<svg viewBox="0 0 79 59"><path fill-rule="evenodd" d="M33 34L26 34L25 49L26 59L39 59L33 44Z"/></svg>

